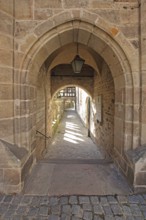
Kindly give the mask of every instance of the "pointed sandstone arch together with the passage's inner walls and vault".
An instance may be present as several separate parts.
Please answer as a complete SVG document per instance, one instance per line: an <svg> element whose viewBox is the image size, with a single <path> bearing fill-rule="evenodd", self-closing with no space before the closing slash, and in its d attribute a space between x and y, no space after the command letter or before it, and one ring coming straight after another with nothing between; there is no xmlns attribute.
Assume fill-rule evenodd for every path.
<svg viewBox="0 0 146 220"><path fill-rule="evenodd" d="M100 106L99 100L104 95L103 102L107 106L103 116L106 123L102 124L101 118L96 118L93 136L112 156L129 182L136 186L135 165L127 152L139 146L139 100L135 95L138 90L135 82L135 78L138 79L138 65L134 59L137 51L118 29L105 24L97 15L95 22L93 14L91 20L85 18L87 12L84 10L83 17L76 17L74 13L71 16L68 13L68 19L63 17L61 23L56 24L49 19L38 25L33 33L36 40L21 47L22 50L27 47L27 52L19 66L20 82L17 87L14 86L14 96L16 89L23 88L20 102L14 97L14 143L25 149L25 158L22 157L23 165L19 170L20 182L23 185L31 166L48 145L48 139L38 136L36 130L44 137L51 136L51 98L58 89L52 71L59 65L70 64L78 44L79 53L85 59L85 65L92 68L93 76L76 76L78 80L72 76L70 79L59 77L66 85L85 84L96 106ZM140 169L137 167L137 174Z"/></svg>

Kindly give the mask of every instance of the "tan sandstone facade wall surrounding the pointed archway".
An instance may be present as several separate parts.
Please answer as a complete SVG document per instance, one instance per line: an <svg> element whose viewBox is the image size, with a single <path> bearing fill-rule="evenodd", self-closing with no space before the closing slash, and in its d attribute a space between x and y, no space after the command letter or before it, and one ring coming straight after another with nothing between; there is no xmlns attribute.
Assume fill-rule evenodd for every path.
<svg viewBox="0 0 146 220"><path fill-rule="evenodd" d="M35 145L38 146L40 141L36 137L36 127L49 134L51 125L47 121L50 121L51 83L48 69L55 66L55 62L56 65L59 62L70 63L68 57L73 57L76 50L70 56L67 51L63 60L60 57L59 61L53 61L64 46L68 48L71 43L84 45L84 51L88 50L90 54L86 57L87 64L99 74L102 73L102 59L109 66L115 85L115 160L117 158L118 165L130 176L134 186L146 187L144 178L139 182L139 176L145 175L144 151L141 151L143 166L140 158L139 165L134 156L131 156L131 152L142 147L146 141L145 14L145 0L141 0L141 4L136 0L0 0L1 146L8 161L11 161L16 152L25 151L20 163L10 163L11 173L8 164L4 165L1 158L2 189L6 181L6 192L21 190L21 183L36 157ZM83 56L84 51L82 50ZM44 70L45 82L48 85L45 92L43 86L39 88L38 84L44 63L47 68ZM63 86L67 86L66 83ZM103 83L103 86L107 92L106 84ZM107 97L108 94L106 100ZM108 100L107 102L110 107ZM44 105L47 107L44 108ZM105 112L107 118L111 113L108 107ZM102 128L96 125L97 132L101 129L103 134L108 129L108 124L112 125L109 115L108 119L110 122L103 124ZM100 141L104 144L102 138ZM10 149L17 150L15 152ZM131 152L128 154L128 151ZM17 158L18 155L16 160ZM16 173L18 178L15 182Z"/></svg>

